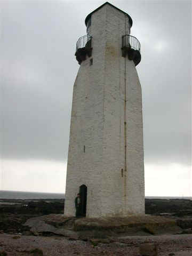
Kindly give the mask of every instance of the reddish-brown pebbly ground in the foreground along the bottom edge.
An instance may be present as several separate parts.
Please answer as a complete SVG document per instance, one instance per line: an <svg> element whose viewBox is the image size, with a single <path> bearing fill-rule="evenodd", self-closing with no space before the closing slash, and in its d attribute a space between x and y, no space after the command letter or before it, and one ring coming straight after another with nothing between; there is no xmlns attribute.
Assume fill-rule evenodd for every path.
<svg viewBox="0 0 192 256"><path fill-rule="evenodd" d="M191 234L128 236L119 238L118 242L98 243L96 246L90 241L69 240L61 236L42 237L0 234L0 255L42 256L42 254L31 252L31 250L38 248L43 251L44 256L139 256L139 246L143 243L155 243L159 256L192 256Z"/></svg>

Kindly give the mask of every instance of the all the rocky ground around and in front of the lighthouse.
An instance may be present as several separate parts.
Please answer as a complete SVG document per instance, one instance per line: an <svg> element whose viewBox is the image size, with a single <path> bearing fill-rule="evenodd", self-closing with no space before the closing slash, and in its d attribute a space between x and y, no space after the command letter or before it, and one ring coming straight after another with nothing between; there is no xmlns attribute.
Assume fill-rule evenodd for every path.
<svg viewBox="0 0 192 256"><path fill-rule="evenodd" d="M146 199L146 214L150 214L148 217L150 221L147 224L142 219L128 218L126 227L129 228L121 227L114 230L110 229L110 220L98 224L104 225L103 227L105 229L107 227L108 230L98 230L97 225L93 228L95 221L93 221L94 225L91 224L92 229L85 228L87 219L63 220L63 204L63 200L54 199L44 201L1 199L0 256L61 254L63 256L139 256L144 255L143 253L160 256L192 256L192 201L190 200ZM169 217L169 221L167 219L165 221L166 225L164 216ZM121 221L118 219L112 222L120 227ZM133 222L136 225L130 226ZM154 226L155 222L163 224ZM82 227L86 230L81 230ZM142 246L144 252L141 250Z"/></svg>

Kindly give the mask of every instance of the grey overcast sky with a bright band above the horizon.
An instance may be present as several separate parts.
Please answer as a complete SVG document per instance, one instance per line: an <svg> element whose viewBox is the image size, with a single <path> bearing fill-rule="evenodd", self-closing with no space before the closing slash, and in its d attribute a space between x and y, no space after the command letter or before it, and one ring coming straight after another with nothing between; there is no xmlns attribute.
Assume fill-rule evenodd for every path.
<svg viewBox="0 0 192 256"><path fill-rule="evenodd" d="M141 43L147 196L192 196L191 1L109 1ZM2 190L65 193L77 39L105 1L1 1Z"/></svg>

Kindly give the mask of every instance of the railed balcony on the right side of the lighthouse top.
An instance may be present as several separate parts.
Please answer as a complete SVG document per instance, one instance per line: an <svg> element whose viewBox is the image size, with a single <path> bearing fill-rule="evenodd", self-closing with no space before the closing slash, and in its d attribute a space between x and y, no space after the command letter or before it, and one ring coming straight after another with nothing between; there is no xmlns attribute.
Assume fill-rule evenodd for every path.
<svg viewBox="0 0 192 256"><path fill-rule="evenodd" d="M141 45L139 40L131 35L124 35L122 37L122 56L128 57L129 60L133 60L135 66L141 61L140 53Z"/></svg>

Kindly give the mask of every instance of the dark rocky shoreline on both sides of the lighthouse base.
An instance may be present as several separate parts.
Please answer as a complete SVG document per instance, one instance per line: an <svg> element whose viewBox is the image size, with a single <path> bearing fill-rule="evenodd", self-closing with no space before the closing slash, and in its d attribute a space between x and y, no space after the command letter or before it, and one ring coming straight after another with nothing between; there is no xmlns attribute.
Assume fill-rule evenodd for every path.
<svg viewBox="0 0 192 256"><path fill-rule="evenodd" d="M7 234L29 234L23 224L31 218L63 214L65 199L0 199L0 230ZM146 199L146 214L177 221L183 234L192 228L192 201L189 199ZM46 234L47 235L47 234Z"/></svg>

